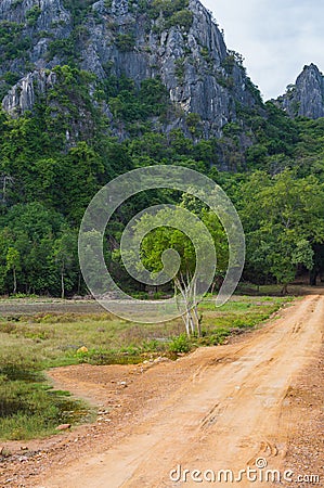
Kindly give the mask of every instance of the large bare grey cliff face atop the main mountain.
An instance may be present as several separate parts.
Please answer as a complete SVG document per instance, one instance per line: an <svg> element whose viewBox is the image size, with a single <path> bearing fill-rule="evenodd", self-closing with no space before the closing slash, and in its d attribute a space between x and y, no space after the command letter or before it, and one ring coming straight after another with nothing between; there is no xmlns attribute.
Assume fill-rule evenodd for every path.
<svg viewBox="0 0 324 488"><path fill-rule="evenodd" d="M42 91L55 82L46 69L72 59L99 80L125 75L140 86L160 77L179 107L166 130L185 130L186 116L194 113L203 137L220 136L236 120L237 106L260 103L198 0L2 0L1 28L16 47L13 52L0 42L2 106L12 115L33 110L35 86ZM14 87L8 74L18 79Z"/></svg>

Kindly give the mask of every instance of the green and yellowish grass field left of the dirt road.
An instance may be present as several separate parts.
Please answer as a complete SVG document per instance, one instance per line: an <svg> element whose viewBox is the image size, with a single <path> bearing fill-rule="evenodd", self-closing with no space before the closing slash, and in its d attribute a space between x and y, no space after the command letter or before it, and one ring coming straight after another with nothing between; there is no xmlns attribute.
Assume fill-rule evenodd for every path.
<svg viewBox="0 0 324 488"><path fill-rule="evenodd" d="M150 356L177 358L200 345L222 344L252 328L289 298L234 296L220 308L199 306L203 337L183 334L181 319L137 324L109 313L38 313L0 318L0 437L30 439L93 418L89 407L54 391L43 371L59 365L135 363Z"/></svg>

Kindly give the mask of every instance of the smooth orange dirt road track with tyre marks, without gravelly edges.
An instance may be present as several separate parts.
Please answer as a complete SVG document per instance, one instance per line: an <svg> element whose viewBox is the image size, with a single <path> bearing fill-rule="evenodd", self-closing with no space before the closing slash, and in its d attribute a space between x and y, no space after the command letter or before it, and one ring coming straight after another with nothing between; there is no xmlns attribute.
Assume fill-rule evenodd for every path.
<svg viewBox="0 0 324 488"><path fill-rule="evenodd" d="M287 442L301 420L300 409L287 409L289 388L294 377L319 357L323 329L324 296L307 296L244 341L199 349L177 361L189 361L192 368L190 377L180 384L173 374L177 363L154 367L164 381L170 374L174 387L146 406L128 435L109 449L103 442L95 453L79 453L64 468L53 465L37 486L277 486L263 484L261 474L281 470L284 476ZM154 378L158 381L158 375ZM65 385L73 388L67 376ZM89 380L90 389L91 385ZM158 384L152 386L158 390ZM108 429L105 435L109 436ZM258 481L255 472L250 479L243 473L239 483L231 483L231 473L219 473L231 470L238 479L247 466L256 470ZM309 486L296 485L295 475L290 476L294 486ZM282 479L282 485L289 484Z"/></svg>

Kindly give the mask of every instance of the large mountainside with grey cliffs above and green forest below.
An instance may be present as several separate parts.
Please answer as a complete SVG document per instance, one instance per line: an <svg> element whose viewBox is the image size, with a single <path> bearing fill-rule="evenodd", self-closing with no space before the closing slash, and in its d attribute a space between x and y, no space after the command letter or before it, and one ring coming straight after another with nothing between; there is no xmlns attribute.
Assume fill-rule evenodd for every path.
<svg viewBox="0 0 324 488"><path fill-rule="evenodd" d="M159 164L196 169L228 192L247 233L246 279L320 275L324 119L307 101L308 117L296 118L263 103L197 0L3 0L0 90L1 294L87 293L77 235L91 197ZM142 285L118 259L121 232L166 197L181 201L134 197L107 231L106 260L130 290Z"/></svg>

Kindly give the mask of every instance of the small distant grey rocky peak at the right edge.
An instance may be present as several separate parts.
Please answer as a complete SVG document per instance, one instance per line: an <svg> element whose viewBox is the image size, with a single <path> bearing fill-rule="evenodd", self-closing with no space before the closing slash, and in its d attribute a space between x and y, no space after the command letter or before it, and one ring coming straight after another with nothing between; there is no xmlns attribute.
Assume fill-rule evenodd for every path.
<svg viewBox="0 0 324 488"><path fill-rule="evenodd" d="M276 100L276 104L290 117L324 117L324 76L314 64L304 66L296 84Z"/></svg>

